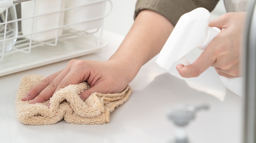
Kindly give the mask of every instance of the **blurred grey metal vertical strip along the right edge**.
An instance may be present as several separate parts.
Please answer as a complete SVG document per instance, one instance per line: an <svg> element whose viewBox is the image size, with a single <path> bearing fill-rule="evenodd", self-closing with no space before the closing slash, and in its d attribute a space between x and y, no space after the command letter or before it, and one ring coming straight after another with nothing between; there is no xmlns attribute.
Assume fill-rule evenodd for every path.
<svg viewBox="0 0 256 143"><path fill-rule="evenodd" d="M244 39L244 143L256 142L256 1L249 1Z"/></svg>

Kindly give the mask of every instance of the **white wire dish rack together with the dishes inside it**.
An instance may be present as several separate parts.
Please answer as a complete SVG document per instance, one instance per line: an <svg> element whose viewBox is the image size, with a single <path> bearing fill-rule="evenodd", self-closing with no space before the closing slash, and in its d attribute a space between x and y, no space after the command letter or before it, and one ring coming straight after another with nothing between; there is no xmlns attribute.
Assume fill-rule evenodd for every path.
<svg viewBox="0 0 256 143"><path fill-rule="evenodd" d="M103 20L112 10L110 0L70 0L72 4L69 6L67 6L68 0L54 0L59 2L57 9L42 12L37 8L43 5L48 7L47 4L42 4L45 1L53 2L52 0L0 1L0 76L91 54L108 45L101 37ZM79 3L81 1L83 3ZM27 7L33 6L25 9L25 3L29 2ZM110 10L105 14L107 3L110 4ZM21 5L21 10L16 12L18 5ZM30 11L29 15L28 11ZM95 11L99 13L97 16ZM21 17L15 17L20 12ZM83 16L84 12L87 12L89 17L93 16L81 18L74 15L80 13L80 16ZM24 13L27 15L24 16ZM47 21L47 17L51 18L50 22ZM54 20L57 21L55 26L53 24L43 27ZM14 25L14 30L10 30L10 25Z"/></svg>

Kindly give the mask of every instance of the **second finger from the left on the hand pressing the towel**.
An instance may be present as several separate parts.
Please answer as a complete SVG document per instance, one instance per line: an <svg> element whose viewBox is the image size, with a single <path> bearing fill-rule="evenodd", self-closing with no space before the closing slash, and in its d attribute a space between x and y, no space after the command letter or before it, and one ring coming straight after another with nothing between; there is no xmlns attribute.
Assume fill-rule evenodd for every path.
<svg viewBox="0 0 256 143"><path fill-rule="evenodd" d="M65 69L62 72L60 72L53 80L48 84L47 87L45 87L40 94L38 94L33 100L31 100L29 103L43 103L47 100L49 100L52 96L54 91L56 90L59 83L62 81L62 79L68 74L69 70Z"/></svg>

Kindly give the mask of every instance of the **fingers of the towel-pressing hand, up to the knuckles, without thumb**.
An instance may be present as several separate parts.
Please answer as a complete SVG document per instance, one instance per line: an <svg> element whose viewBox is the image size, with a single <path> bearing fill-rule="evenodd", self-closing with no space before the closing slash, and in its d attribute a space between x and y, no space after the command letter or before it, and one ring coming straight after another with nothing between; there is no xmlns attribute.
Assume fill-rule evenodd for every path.
<svg viewBox="0 0 256 143"><path fill-rule="evenodd" d="M43 103L49 100L59 89L87 79L89 74L84 73L84 68L82 70L78 68L84 63L76 61L71 60L64 70L56 72L39 82L22 100L31 100L29 103ZM72 65L76 68L72 68ZM47 106L49 107L50 104Z"/></svg>

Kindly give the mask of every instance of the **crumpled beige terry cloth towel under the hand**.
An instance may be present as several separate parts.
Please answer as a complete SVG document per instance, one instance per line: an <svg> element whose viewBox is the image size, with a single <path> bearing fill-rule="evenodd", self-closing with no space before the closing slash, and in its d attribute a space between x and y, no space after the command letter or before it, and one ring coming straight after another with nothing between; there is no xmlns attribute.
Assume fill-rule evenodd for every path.
<svg viewBox="0 0 256 143"><path fill-rule="evenodd" d="M109 122L110 113L128 100L132 89L127 86L121 93L92 95L83 102L79 94L90 87L82 82L57 91L44 103L29 104L22 97L45 76L25 75L22 77L15 101L18 120L29 125L49 125L62 119L73 124L104 124ZM50 109L47 107L51 103Z"/></svg>

